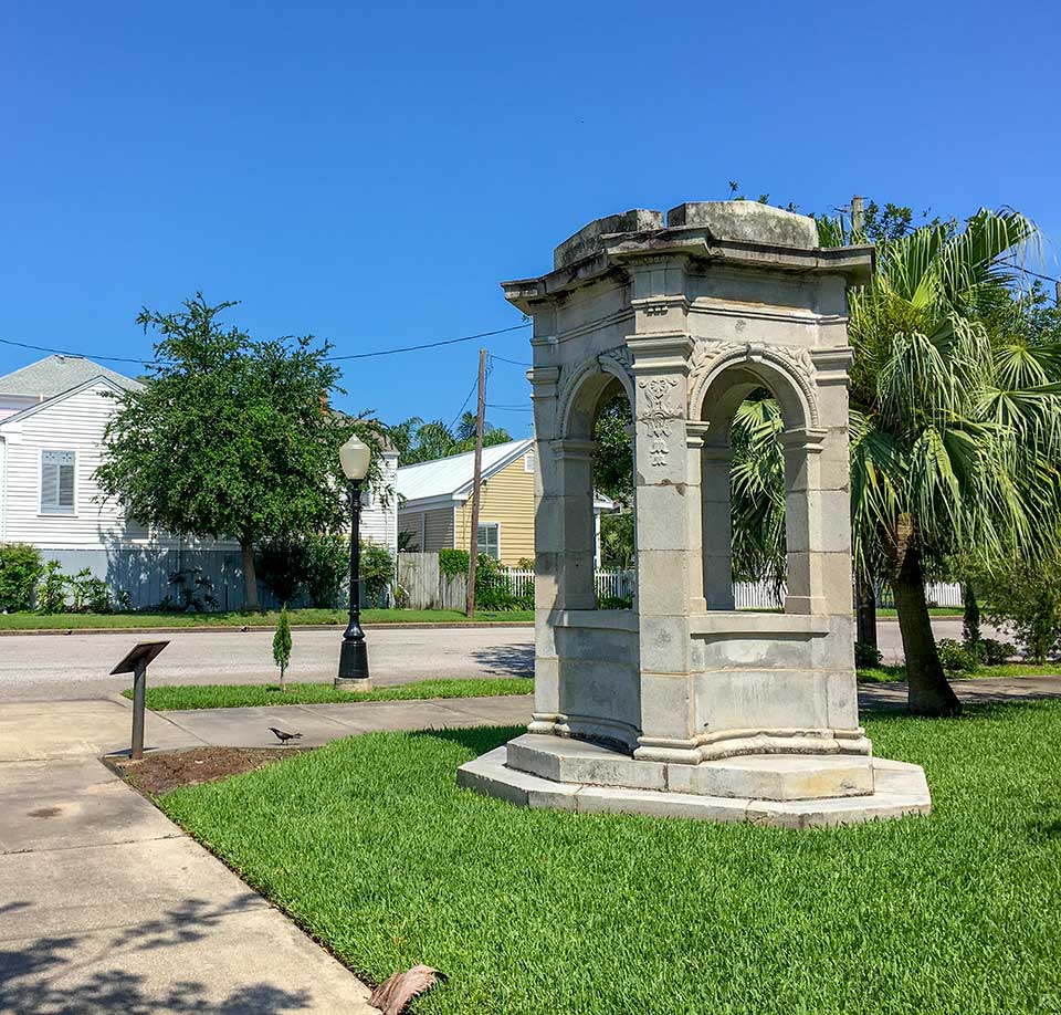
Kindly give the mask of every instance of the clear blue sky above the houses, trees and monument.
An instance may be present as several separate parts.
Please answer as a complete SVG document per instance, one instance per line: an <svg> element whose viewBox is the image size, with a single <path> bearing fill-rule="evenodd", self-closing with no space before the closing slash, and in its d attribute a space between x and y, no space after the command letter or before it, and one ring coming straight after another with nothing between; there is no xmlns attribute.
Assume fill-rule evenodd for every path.
<svg viewBox="0 0 1061 1015"><path fill-rule="evenodd" d="M148 356L137 310L199 289L338 353L505 327L497 282L585 222L731 179L808 211L1012 205L1058 274L1059 61L1055 0L10 2L0 337ZM450 419L477 346L348 367L346 406ZM489 399L527 387L498 364Z"/></svg>

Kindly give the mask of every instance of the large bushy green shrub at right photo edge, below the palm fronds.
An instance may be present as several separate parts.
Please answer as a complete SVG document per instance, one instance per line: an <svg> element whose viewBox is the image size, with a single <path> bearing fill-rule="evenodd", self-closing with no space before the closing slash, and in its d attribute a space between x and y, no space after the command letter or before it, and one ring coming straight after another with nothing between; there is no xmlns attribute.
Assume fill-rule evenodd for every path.
<svg viewBox="0 0 1061 1015"><path fill-rule="evenodd" d="M1012 634L1023 655L1043 663L1061 639L1061 563L1021 561L985 579L986 614Z"/></svg>

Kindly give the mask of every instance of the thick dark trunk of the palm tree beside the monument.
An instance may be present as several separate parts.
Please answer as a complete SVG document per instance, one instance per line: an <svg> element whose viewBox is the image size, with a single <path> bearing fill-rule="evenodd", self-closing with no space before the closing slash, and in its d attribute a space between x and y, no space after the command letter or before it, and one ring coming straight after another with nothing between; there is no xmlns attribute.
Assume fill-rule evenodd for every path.
<svg viewBox="0 0 1061 1015"><path fill-rule="evenodd" d="M910 711L918 715L957 715L962 711L962 703L947 683L939 665L932 618L925 601L921 554L913 547L906 551L902 566L892 579L892 588L906 656Z"/></svg>

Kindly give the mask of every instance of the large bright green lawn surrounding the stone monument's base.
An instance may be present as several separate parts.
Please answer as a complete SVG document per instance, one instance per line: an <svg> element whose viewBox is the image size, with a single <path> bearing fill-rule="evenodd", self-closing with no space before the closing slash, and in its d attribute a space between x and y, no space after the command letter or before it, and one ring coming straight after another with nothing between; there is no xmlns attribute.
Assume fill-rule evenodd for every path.
<svg viewBox="0 0 1061 1015"><path fill-rule="evenodd" d="M1061 1011L1061 701L875 716L931 817L791 833L460 791L514 730L374 733L178 789L172 818L418 1012Z"/></svg>

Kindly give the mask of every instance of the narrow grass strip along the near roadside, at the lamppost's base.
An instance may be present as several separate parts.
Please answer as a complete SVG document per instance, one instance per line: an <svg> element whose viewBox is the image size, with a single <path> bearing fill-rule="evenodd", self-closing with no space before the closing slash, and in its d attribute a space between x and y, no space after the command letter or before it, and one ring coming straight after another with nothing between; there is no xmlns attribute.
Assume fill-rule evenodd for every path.
<svg viewBox="0 0 1061 1015"><path fill-rule="evenodd" d="M242 709L250 705L336 704L347 701L420 701L427 698L486 698L530 694L529 677L475 680L418 680L396 688L372 691L337 691L330 683L290 683L286 691L275 684L188 684L147 689L147 707L158 710ZM122 692L126 698L133 691Z"/></svg>

